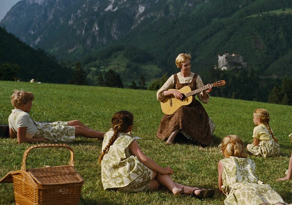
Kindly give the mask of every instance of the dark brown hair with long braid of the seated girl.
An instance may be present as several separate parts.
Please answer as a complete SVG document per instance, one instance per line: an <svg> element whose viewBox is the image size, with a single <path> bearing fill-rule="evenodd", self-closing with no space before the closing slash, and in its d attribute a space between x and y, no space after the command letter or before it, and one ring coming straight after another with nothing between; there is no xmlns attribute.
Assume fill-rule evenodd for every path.
<svg viewBox="0 0 292 205"><path fill-rule="evenodd" d="M131 112L126 110L121 110L119 112L114 113L114 115L111 118L111 124L112 128L114 130L114 133L112 137L110 138L108 145L105 147L105 149L102 151L98 162L101 163L103 156L109 149L109 147L113 144L113 142L116 139L116 136L118 136L119 132L126 132L128 128L133 125L134 116Z"/></svg>

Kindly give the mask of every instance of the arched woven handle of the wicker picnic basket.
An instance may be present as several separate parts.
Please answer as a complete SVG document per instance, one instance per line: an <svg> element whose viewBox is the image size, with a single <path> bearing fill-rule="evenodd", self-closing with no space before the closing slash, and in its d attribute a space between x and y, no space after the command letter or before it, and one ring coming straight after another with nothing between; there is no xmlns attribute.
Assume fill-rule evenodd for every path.
<svg viewBox="0 0 292 205"><path fill-rule="evenodd" d="M42 144L42 145L34 145L34 146L31 146L31 147L27 148L27 150L24 152L24 155L23 155L21 169L26 172L26 159L27 159L28 153L32 149L35 149L35 148L48 148L48 147L63 147L63 148L68 148L69 151L70 151L69 165L72 166L72 167L74 167L74 152L73 152L73 149L71 147L69 147L68 145L65 145L65 144Z"/></svg>

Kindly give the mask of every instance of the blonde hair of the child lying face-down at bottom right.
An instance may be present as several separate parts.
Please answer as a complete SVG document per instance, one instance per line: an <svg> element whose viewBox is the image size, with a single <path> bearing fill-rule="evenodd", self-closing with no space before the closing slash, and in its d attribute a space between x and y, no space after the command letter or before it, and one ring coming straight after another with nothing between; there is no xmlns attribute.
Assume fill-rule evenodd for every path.
<svg viewBox="0 0 292 205"><path fill-rule="evenodd" d="M221 143L221 151L226 158L229 156L246 158L247 154L243 151L242 139L237 135L227 135Z"/></svg>

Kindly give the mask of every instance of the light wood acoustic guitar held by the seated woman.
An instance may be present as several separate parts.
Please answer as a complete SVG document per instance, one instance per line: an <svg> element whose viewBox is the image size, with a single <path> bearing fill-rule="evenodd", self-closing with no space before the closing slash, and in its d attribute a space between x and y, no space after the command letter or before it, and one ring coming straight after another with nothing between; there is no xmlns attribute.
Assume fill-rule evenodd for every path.
<svg viewBox="0 0 292 205"><path fill-rule="evenodd" d="M208 90L209 88L212 88L212 87L221 87L224 85L225 85L225 80L219 80L215 83L206 85L202 88L199 88L193 91L191 91L189 86L185 86L181 88L180 90L177 90L183 94L182 99L177 99L173 95L169 95L160 102L162 112L164 114L170 115L174 113L176 110L178 110L181 106L189 105L192 101L193 95L200 93L204 90ZM176 90L176 89L169 89L169 90Z"/></svg>

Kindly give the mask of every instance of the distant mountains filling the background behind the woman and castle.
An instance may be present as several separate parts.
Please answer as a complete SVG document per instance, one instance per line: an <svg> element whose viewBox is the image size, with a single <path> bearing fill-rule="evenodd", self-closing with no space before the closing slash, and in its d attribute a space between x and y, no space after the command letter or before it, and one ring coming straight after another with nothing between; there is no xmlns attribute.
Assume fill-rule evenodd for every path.
<svg viewBox="0 0 292 205"><path fill-rule="evenodd" d="M224 96L266 101L282 78L292 78L291 20L285 0L23 0L0 26L60 61L80 60L91 84L109 69L127 84L141 74L149 84L177 72L174 59L187 52L208 83L251 75L243 93L260 89ZM212 72L225 51L242 55L247 70Z"/></svg>

